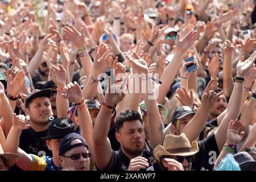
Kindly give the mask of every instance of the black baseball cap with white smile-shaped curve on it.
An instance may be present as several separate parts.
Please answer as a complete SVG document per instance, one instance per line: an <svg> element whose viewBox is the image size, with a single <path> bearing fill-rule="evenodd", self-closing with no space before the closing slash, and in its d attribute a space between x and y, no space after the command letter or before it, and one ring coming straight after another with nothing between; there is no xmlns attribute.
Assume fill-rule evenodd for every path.
<svg viewBox="0 0 256 182"><path fill-rule="evenodd" d="M49 123L47 137L42 139L61 139L75 131L75 125L71 119L55 118Z"/></svg>

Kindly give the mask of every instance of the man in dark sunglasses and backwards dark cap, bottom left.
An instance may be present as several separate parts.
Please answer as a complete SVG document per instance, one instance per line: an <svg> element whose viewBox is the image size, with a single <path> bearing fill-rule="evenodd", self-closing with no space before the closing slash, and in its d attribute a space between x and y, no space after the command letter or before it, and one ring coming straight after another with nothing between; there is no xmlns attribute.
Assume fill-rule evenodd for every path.
<svg viewBox="0 0 256 182"><path fill-rule="evenodd" d="M60 142L59 159L63 169L89 171L91 155L86 140L79 134L68 134Z"/></svg>

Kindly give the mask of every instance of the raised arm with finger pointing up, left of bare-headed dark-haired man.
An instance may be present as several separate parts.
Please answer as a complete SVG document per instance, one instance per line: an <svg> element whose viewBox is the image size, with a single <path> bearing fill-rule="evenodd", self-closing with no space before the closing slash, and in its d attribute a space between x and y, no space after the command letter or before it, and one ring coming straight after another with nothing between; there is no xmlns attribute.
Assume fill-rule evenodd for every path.
<svg viewBox="0 0 256 182"><path fill-rule="evenodd" d="M108 92L105 94L105 105L114 107L118 102L122 101L125 94L117 94L115 90L120 89L115 84L111 85L111 80L108 80ZM108 139L108 131L112 117L112 109L101 105L100 113L95 121L93 128L93 142L95 162L100 170L104 170L110 163L112 158L112 149Z"/></svg>

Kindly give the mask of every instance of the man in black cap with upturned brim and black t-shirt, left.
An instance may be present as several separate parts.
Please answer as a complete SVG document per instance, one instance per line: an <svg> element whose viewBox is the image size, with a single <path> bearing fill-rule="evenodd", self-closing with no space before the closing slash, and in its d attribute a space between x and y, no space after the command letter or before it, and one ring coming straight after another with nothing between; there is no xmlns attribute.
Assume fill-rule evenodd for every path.
<svg viewBox="0 0 256 182"><path fill-rule="evenodd" d="M53 114L51 94L51 89L35 89L25 100L25 114L30 116L30 127L22 131L19 147L28 154L52 156L46 141L41 139L47 135L49 117Z"/></svg>

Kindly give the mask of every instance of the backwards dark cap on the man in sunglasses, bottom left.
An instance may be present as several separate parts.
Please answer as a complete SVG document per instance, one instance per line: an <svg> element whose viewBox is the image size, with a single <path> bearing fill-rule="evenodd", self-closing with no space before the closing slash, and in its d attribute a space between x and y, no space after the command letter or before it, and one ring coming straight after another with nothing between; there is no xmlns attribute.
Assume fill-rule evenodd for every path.
<svg viewBox="0 0 256 182"><path fill-rule="evenodd" d="M71 145L71 142L74 139L80 139L82 142ZM60 141L59 155L61 156L61 155L65 154L65 152L71 150L72 148L79 147L79 146L85 146L87 148L87 150L89 150L88 144L87 144L86 140L84 139L84 137L82 137L81 135L76 134L76 133L70 133L70 134L66 135Z"/></svg>

